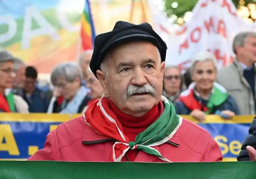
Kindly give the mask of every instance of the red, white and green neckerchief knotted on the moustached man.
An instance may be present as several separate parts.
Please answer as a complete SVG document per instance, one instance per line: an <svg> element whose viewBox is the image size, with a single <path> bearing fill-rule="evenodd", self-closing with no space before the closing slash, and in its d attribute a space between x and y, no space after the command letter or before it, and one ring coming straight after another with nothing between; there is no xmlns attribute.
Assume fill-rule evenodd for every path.
<svg viewBox="0 0 256 179"><path fill-rule="evenodd" d="M182 118L176 115L173 104L166 97L162 96L161 100L164 103L164 112L144 132L139 133L135 141L130 141L125 136L121 123L109 109L108 99L105 95L88 107L84 114L85 123L100 135L116 140L110 161L119 162L129 149L140 149L148 154L157 156L163 161L171 162L153 147L170 140L178 131Z"/></svg>

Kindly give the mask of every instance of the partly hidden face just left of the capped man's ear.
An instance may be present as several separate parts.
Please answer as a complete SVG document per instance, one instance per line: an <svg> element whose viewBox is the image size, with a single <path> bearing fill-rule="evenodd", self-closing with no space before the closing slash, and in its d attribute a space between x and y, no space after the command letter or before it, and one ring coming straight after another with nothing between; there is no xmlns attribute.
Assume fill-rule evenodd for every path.
<svg viewBox="0 0 256 179"><path fill-rule="evenodd" d="M103 89L100 85L100 81L94 76L93 73L87 72L86 85L91 89L91 97L94 99L101 98Z"/></svg>

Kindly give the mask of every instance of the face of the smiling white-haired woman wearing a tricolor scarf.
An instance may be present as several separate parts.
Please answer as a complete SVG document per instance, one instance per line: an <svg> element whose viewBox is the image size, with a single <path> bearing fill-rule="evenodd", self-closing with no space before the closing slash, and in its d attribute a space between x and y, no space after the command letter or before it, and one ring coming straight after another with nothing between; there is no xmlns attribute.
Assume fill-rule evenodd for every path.
<svg viewBox="0 0 256 179"><path fill-rule="evenodd" d="M212 61L197 62L192 73L192 80L196 82L198 90L212 89L216 81L216 69Z"/></svg>

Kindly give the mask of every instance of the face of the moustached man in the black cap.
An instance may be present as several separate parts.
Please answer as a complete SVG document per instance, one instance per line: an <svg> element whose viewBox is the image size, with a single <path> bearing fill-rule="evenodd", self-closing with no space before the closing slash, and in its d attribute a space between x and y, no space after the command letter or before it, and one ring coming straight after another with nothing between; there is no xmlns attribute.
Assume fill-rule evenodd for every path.
<svg viewBox="0 0 256 179"><path fill-rule="evenodd" d="M164 62L161 63L157 48L149 42L131 42L117 47L107 57L108 74L98 70L104 93L124 113L140 117L159 103L162 88ZM146 91L134 95L128 87L151 86Z"/></svg>

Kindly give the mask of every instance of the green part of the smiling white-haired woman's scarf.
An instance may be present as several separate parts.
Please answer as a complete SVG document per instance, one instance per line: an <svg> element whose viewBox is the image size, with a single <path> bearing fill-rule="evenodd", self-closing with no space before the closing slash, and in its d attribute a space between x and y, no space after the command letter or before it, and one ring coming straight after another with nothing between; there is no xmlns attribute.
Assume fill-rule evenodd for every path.
<svg viewBox="0 0 256 179"><path fill-rule="evenodd" d="M227 92L221 91L216 86L213 86L213 88L213 93L207 103L208 111L206 111L205 114L211 114L215 106L223 104L228 98Z"/></svg>

